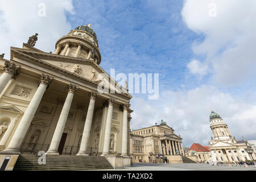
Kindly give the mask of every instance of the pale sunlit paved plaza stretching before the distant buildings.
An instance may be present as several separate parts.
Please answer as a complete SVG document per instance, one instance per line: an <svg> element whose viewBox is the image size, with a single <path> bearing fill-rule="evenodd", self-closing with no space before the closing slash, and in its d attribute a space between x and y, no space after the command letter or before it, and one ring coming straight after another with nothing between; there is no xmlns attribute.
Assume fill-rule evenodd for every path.
<svg viewBox="0 0 256 182"><path fill-rule="evenodd" d="M210 164L155 164L155 163L134 163L131 167L123 169L108 169L106 171L256 171L254 166L212 166Z"/></svg>

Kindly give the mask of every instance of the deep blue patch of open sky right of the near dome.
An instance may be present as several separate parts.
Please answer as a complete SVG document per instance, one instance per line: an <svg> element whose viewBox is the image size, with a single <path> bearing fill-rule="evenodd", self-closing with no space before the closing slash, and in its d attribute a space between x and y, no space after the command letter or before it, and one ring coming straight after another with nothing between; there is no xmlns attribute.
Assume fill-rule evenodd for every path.
<svg viewBox="0 0 256 182"><path fill-rule="evenodd" d="M92 3L90 3L92 2ZM74 1L73 28L92 24L107 72L159 73L160 88L193 88L198 80L186 77L192 43L201 36L183 23L182 1ZM200 81L204 82L204 80Z"/></svg>

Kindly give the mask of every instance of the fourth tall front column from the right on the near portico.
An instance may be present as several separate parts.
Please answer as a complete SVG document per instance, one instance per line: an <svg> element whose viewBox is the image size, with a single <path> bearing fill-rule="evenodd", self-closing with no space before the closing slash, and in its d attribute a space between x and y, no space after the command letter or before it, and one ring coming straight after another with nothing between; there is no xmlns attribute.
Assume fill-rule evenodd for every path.
<svg viewBox="0 0 256 182"><path fill-rule="evenodd" d="M46 152L47 155L59 155L58 148L60 144L60 139L64 131L64 127L68 118L69 109L71 107L73 96L76 90L77 90L77 87L75 85L69 84L68 96L66 97L63 108L61 110L60 117L57 122L57 126L54 131L51 144L49 146L48 151Z"/></svg>

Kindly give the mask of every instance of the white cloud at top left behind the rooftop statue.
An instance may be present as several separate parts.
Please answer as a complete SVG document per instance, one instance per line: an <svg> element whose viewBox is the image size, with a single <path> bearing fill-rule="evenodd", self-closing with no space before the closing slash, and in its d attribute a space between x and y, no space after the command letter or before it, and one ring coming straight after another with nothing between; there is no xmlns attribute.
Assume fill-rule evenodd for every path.
<svg viewBox="0 0 256 182"><path fill-rule="evenodd" d="M40 3L46 6L46 16L39 16ZM72 29L65 12L73 14L72 0L65 1L0 1L0 53L10 58L10 47L22 47L30 36L38 33L36 48L54 51L56 41Z"/></svg>

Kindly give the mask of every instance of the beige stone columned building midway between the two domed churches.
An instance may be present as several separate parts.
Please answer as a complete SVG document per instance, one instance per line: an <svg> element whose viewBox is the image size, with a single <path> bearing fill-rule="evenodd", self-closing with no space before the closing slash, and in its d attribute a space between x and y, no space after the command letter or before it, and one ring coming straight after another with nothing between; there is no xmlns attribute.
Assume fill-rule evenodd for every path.
<svg viewBox="0 0 256 182"><path fill-rule="evenodd" d="M166 123L150 126L130 133L130 155L134 163L182 163L182 138Z"/></svg>

